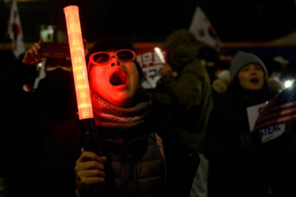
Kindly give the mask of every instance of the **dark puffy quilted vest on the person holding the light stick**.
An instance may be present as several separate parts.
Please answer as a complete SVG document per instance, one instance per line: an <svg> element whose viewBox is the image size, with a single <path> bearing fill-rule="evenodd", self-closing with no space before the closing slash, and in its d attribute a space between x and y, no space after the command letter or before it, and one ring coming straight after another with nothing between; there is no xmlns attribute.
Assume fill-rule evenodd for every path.
<svg viewBox="0 0 296 197"><path fill-rule="evenodd" d="M105 170L110 196L163 196L165 159L156 133L136 138L124 147L109 142L108 148ZM104 193L108 196L107 190Z"/></svg>

